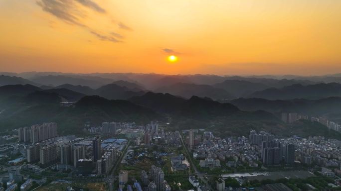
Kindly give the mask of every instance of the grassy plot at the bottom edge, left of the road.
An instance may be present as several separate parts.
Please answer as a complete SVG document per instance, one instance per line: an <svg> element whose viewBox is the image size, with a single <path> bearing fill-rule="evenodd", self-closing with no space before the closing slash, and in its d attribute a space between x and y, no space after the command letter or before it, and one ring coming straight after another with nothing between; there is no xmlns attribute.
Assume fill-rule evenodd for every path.
<svg viewBox="0 0 341 191"><path fill-rule="evenodd" d="M38 188L36 191L66 191L67 187L84 189L84 191L108 191L105 183L72 183L72 184L48 184Z"/></svg>

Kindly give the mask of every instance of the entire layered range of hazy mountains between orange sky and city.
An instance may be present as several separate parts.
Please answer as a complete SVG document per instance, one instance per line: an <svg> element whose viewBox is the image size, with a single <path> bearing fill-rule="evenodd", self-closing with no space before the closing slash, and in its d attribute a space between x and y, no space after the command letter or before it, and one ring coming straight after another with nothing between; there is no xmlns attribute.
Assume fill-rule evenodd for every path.
<svg viewBox="0 0 341 191"><path fill-rule="evenodd" d="M8 76L5 76L8 75ZM85 122L150 120L166 129L205 128L218 135L249 130L299 136L340 136L310 121L285 124L281 112L341 122L339 76L161 75L134 73L3 73L0 129L56 121L61 134L81 133ZM60 104L73 101L71 106ZM311 128L310 130L308 130Z"/></svg>

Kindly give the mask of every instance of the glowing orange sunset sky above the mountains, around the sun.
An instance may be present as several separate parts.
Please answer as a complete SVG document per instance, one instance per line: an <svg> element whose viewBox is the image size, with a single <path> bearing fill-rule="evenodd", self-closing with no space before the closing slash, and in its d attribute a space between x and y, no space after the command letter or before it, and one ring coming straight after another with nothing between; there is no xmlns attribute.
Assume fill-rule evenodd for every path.
<svg viewBox="0 0 341 191"><path fill-rule="evenodd" d="M0 0L0 26L6 72L341 73L341 0Z"/></svg>

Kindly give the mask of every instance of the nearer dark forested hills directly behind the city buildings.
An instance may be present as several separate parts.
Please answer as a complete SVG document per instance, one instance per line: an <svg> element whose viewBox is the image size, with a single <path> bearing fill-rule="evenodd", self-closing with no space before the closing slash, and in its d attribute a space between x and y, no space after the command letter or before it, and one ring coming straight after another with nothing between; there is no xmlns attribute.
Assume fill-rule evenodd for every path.
<svg viewBox="0 0 341 191"><path fill-rule="evenodd" d="M109 100L99 95L84 95L72 106L63 106L59 101L70 96L64 90L46 91L32 85L0 87L0 101L7 101L1 104L0 129L56 121L60 134L81 134L87 121L98 125L103 121L147 123L151 120L168 122L168 129L207 128L222 136L246 136L252 129L285 134L287 128L293 128L293 124L284 124L270 112L243 111L234 104L221 103L208 97L191 96L186 99L148 92L129 100ZM8 101L14 95L15 101ZM316 128L315 132L302 131L300 125L307 128L311 124L309 121L301 121L295 126L293 132L300 136L307 136L307 132L310 135L321 135L325 132L324 128L327 128ZM335 135L339 136L337 132Z"/></svg>

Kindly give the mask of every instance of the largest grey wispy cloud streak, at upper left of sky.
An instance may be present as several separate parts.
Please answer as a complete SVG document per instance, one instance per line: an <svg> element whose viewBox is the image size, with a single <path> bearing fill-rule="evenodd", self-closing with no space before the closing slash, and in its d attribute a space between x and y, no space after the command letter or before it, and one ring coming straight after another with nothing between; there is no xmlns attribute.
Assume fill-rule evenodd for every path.
<svg viewBox="0 0 341 191"><path fill-rule="evenodd" d="M98 30L96 30L96 28L88 26L82 22L82 20L87 17L86 10L84 10L84 8L90 8L91 10L104 15L107 12L104 8L92 0L36 0L36 3L43 11L68 24L77 25L86 29L99 40L123 42L122 40L118 40L118 38L123 39L123 36L119 33L108 32L107 34L104 34L103 32L97 32ZM126 25L123 26L129 28ZM119 25L120 28L123 26Z"/></svg>

